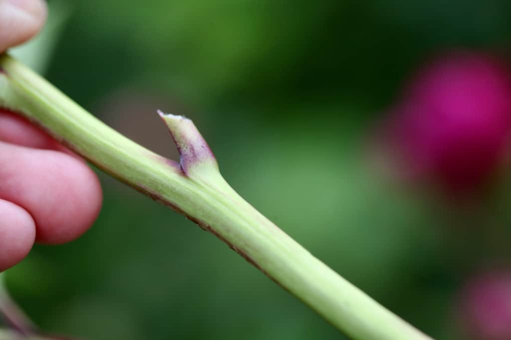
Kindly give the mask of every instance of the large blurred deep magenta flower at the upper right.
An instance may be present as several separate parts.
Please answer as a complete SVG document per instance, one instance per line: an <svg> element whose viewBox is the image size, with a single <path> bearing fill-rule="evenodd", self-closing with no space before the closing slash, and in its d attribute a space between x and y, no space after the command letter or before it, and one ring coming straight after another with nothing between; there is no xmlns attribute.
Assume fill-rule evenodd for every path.
<svg viewBox="0 0 511 340"><path fill-rule="evenodd" d="M489 180L511 131L511 79L502 62L451 54L426 65L393 110L390 138L406 172L452 192Z"/></svg>

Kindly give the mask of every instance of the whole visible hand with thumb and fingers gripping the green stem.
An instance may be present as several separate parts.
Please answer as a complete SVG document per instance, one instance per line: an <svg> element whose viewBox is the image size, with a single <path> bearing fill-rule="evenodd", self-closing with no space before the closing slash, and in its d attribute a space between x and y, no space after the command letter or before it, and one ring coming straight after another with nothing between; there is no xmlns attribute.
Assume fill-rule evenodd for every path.
<svg viewBox="0 0 511 340"><path fill-rule="evenodd" d="M0 0L0 52L35 35L45 17L42 0ZM34 241L80 236L101 201L98 178L83 160L0 109L0 272L23 259Z"/></svg>

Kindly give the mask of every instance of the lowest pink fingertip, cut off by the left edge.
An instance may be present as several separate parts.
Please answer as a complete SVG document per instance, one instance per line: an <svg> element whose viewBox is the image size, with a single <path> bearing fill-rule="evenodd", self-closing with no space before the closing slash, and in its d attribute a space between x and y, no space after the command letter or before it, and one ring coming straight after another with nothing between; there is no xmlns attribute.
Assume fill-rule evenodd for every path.
<svg viewBox="0 0 511 340"><path fill-rule="evenodd" d="M0 272L27 256L35 234L35 222L25 209L0 200Z"/></svg>

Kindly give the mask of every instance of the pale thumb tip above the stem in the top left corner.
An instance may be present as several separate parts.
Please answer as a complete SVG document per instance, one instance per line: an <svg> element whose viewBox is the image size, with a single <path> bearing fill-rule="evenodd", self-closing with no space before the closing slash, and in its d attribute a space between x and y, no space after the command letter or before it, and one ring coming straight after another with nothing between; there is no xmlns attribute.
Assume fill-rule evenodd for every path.
<svg viewBox="0 0 511 340"><path fill-rule="evenodd" d="M0 0L0 52L34 36L46 14L43 0Z"/></svg>

